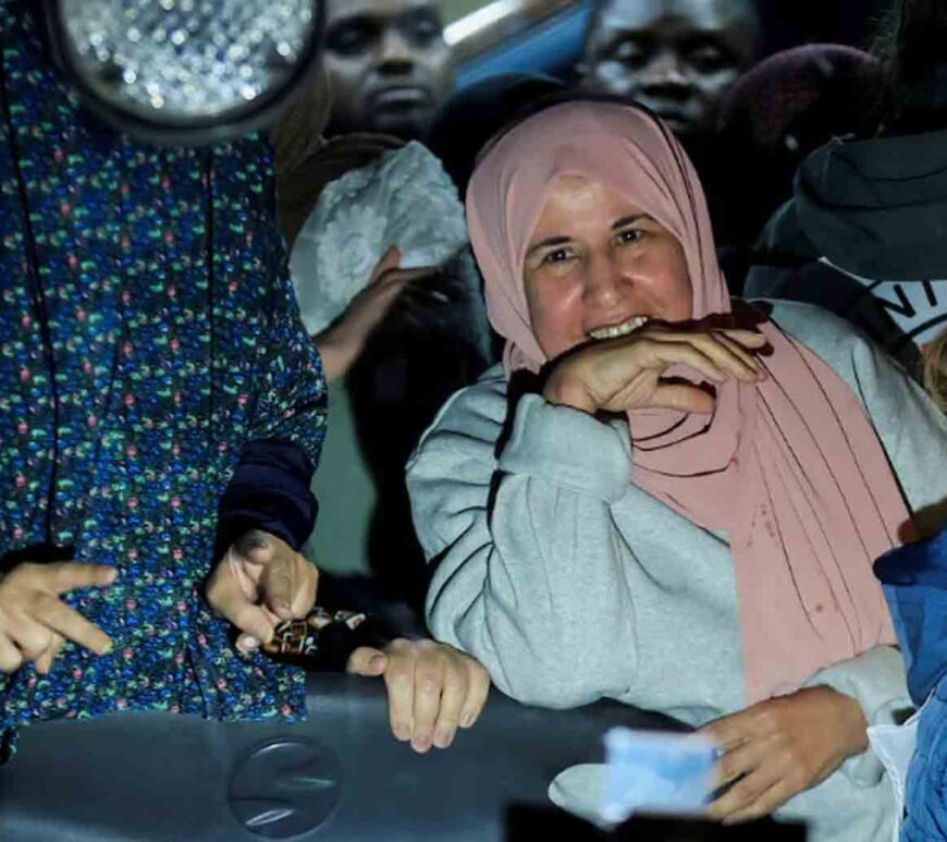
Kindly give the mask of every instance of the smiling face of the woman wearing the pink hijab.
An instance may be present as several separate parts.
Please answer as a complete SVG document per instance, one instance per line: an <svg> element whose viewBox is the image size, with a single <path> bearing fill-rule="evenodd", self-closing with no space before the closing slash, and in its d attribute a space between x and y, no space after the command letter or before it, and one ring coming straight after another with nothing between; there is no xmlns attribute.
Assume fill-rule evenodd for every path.
<svg viewBox="0 0 947 842"><path fill-rule="evenodd" d="M691 318L677 237L599 181L563 175L550 191L522 265L532 330L549 358L643 322Z"/></svg>

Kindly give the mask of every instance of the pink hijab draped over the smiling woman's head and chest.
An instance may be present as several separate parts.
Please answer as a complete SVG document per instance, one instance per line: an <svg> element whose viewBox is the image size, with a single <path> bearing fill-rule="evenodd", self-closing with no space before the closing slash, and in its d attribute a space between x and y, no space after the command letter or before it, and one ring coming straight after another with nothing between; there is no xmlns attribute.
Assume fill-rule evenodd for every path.
<svg viewBox="0 0 947 842"><path fill-rule="evenodd" d="M678 239L694 319L730 313L700 182L667 129L618 103L552 106L487 152L467 193L470 240L490 320L507 340L507 371L545 362L522 263L546 192L564 174L606 183ZM729 535L751 704L895 643L871 565L910 517L851 389L772 321L759 329L773 349L763 358L768 379L725 382L712 416L628 413L631 481L699 526Z"/></svg>

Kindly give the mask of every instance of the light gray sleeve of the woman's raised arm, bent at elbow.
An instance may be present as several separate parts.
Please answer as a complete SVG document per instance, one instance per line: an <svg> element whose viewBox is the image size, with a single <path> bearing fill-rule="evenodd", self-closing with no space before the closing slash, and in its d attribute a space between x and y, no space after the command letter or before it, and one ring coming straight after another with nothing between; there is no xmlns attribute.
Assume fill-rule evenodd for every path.
<svg viewBox="0 0 947 842"><path fill-rule="evenodd" d="M601 536L614 534L608 502L628 487L627 431L526 395L497 457L506 411L502 378L457 393L408 465L415 526L436 564L431 631L521 701L624 695L635 610L618 541Z"/></svg>

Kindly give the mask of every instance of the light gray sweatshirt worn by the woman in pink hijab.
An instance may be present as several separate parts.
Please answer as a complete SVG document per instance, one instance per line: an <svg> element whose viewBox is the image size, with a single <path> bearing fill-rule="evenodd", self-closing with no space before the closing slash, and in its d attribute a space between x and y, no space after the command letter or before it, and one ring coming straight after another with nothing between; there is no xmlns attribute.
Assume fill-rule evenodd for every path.
<svg viewBox="0 0 947 842"><path fill-rule="evenodd" d="M773 319L859 395L912 510L947 498L947 422L887 355L816 307ZM566 708L611 697L699 725L746 706L726 535L629 483L628 428L528 394L508 439L495 367L441 410L408 463L415 527L434 564L434 636L479 658L514 698ZM910 707L903 661L877 647L808 684L854 696L871 724ZM777 813L814 842L890 837L890 784L866 752Z"/></svg>

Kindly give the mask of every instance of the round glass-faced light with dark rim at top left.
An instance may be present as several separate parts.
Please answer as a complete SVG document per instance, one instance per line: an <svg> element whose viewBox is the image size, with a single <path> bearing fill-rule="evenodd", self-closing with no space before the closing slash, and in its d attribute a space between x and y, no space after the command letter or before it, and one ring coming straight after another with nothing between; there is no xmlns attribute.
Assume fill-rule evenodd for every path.
<svg viewBox="0 0 947 842"><path fill-rule="evenodd" d="M88 107L160 144L269 122L315 68L322 0L44 0L53 58Z"/></svg>

